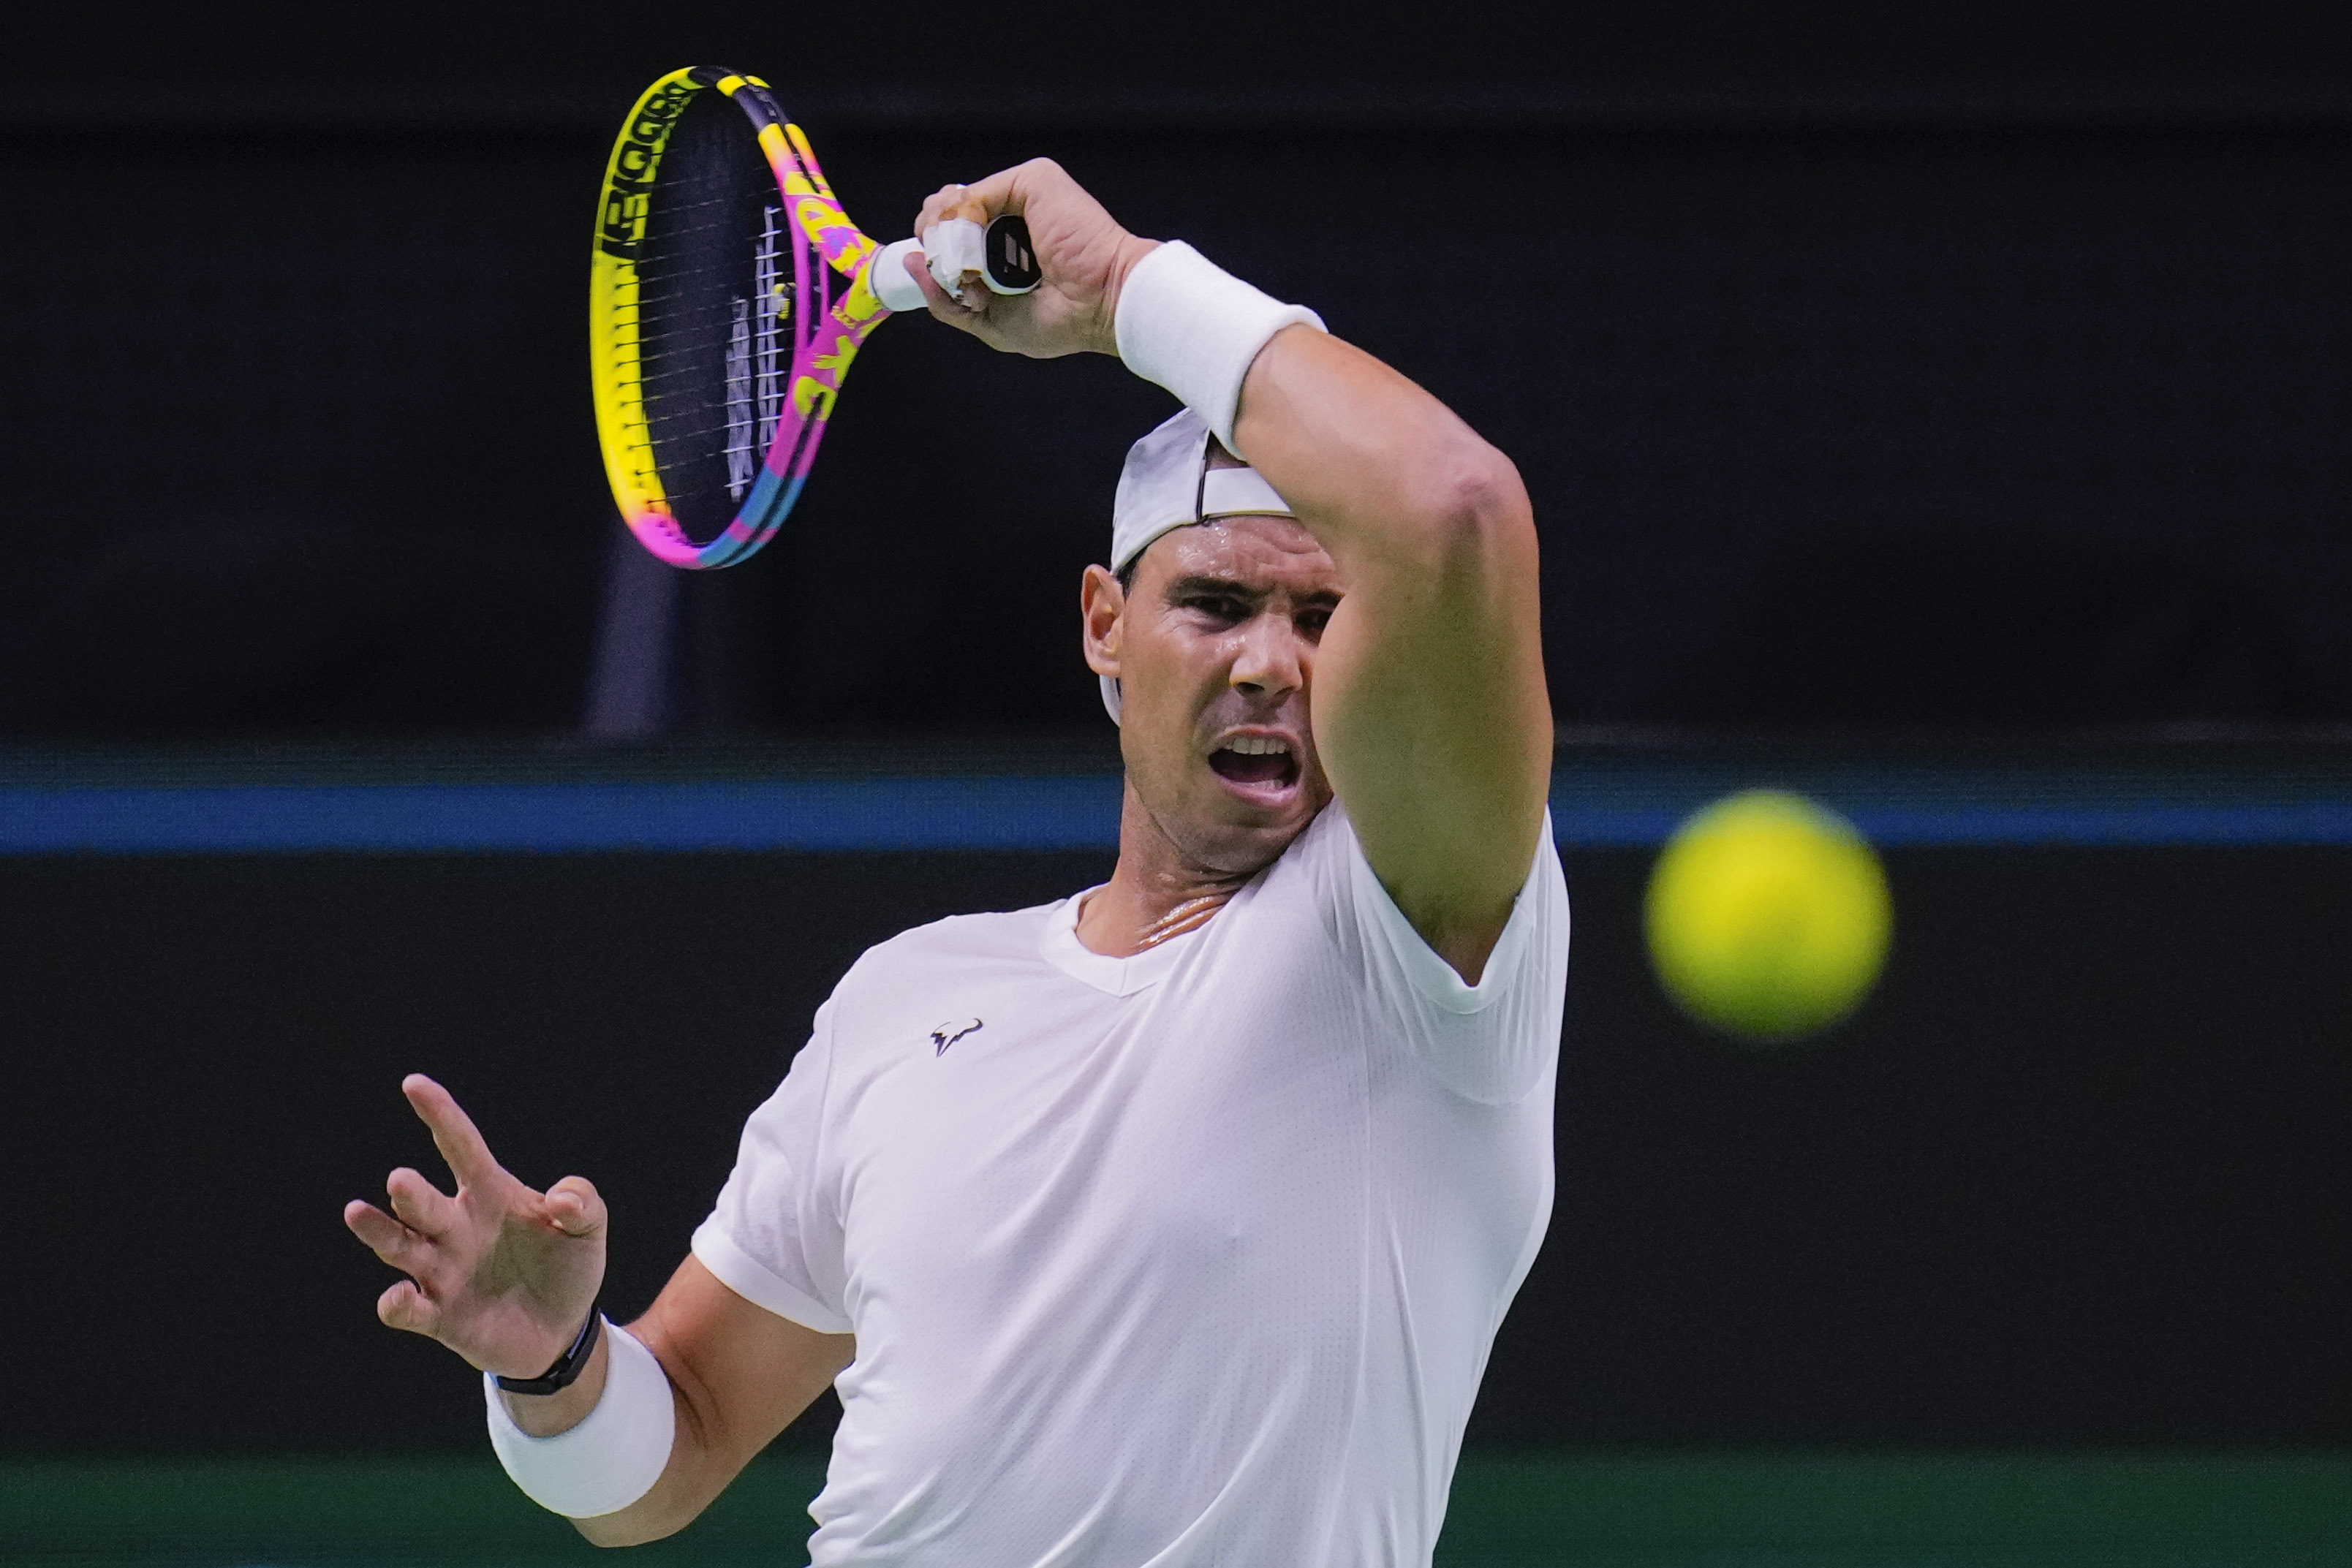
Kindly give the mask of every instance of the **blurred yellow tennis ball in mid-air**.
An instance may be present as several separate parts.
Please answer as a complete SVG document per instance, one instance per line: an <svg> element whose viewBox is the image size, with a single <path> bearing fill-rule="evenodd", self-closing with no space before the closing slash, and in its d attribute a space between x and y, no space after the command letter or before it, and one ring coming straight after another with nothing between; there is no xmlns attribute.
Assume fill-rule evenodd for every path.
<svg viewBox="0 0 2352 1568"><path fill-rule="evenodd" d="M1813 1034L1886 961L1886 875L1846 818L1802 795L1715 802L1649 875L1649 959L1693 1018L1750 1041Z"/></svg>

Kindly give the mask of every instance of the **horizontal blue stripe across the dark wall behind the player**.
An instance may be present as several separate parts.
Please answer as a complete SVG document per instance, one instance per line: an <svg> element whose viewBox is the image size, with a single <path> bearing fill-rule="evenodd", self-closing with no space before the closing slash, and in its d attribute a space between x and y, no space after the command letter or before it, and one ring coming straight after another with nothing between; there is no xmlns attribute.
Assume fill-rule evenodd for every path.
<svg viewBox="0 0 2352 1568"><path fill-rule="evenodd" d="M1663 844L1700 799L1552 802L1566 846ZM2352 844L2352 799L1839 802L1875 844ZM823 778L0 788L0 856L1112 849L1120 780Z"/></svg>

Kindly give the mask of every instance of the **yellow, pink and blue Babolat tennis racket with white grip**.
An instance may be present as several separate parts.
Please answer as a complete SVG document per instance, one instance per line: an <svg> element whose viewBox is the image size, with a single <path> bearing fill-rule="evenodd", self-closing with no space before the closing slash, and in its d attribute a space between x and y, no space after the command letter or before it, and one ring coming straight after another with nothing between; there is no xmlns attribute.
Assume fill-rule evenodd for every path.
<svg viewBox="0 0 2352 1568"><path fill-rule="evenodd" d="M1021 219L983 244L990 289L1037 287ZM647 550L731 567L776 536L866 334L922 308L920 249L858 233L760 78L644 89L604 165L588 322L604 477Z"/></svg>

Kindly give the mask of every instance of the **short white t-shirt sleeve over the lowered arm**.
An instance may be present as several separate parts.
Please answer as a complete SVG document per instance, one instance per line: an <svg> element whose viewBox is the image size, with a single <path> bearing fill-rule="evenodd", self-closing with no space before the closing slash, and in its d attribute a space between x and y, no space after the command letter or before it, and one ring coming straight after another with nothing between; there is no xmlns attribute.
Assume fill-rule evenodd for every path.
<svg viewBox="0 0 2352 1568"><path fill-rule="evenodd" d="M837 1182L823 1159L830 1070L828 1001L783 1084L743 1124L734 1173L694 1232L694 1255L743 1300L802 1328L849 1333Z"/></svg>

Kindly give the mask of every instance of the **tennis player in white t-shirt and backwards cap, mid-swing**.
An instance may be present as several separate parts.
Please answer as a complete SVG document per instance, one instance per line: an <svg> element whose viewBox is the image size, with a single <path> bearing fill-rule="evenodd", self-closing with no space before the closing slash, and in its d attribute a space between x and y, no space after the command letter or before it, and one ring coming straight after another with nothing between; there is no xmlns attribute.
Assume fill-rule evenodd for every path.
<svg viewBox="0 0 2352 1568"><path fill-rule="evenodd" d="M430 1079L402 1088L456 1194L393 1171L346 1220L407 1274L379 1316L485 1368L499 1458L593 1542L677 1530L833 1385L821 1566L1428 1563L1552 1199L1526 494L1051 162L917 233L1000 212L1044 287L924 275L931 315L1185 404L1080 590L1127 762L1110 882L861 957L628 1328L597 1192L524 1187Z"/></svg>

